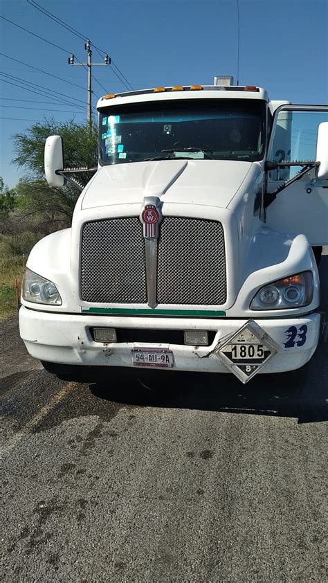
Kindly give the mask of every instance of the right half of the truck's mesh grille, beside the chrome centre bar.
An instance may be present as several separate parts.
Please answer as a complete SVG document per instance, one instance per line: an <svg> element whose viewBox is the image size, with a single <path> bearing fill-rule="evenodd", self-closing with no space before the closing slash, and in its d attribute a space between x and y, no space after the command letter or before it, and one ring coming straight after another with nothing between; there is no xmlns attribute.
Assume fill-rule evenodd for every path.
<svg viewBox="0 0 328 583"><path fill-rule="evenodd" d="M158 242L157 301L222 305L226 257L221 223L165 217Z"/></svg>

